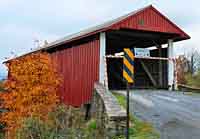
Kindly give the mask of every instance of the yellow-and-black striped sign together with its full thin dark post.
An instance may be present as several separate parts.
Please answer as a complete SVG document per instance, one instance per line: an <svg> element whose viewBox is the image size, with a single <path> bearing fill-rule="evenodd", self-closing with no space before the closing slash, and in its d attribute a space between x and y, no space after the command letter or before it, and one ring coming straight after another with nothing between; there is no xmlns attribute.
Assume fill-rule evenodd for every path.
<svg viewBox="0 0 200 139"><path fill-rule="evenodd" d="M124 48L123 58L123 78L127 82L127 121L126 121L126 139L129 139L129 89L130 85L134 83L134 53L130 48Z"/></svg>

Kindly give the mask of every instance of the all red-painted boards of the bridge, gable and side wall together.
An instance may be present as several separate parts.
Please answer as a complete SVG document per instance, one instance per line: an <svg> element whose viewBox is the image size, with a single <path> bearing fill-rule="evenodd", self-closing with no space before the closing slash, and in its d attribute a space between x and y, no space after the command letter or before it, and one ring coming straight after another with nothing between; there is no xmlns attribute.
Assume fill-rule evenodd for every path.
<svg viewBox="0 0 200 139"><path fill-rule="evenodd" d="M139 23L141 20L144 24ZM100 32L120 28L177 33L179 34L179 37L181 36L180 38L182 40L190 38L154 7L149 6L127 16L127 18L123 20L111 22L110 24L106 24L106 26L102 25L102 27L97 28L96 30L82 33L82 35L69 40L63 40L51 47L59 47L61 44L67 46L69 42L75 42L80 39L83 40L85 37L94 36ZM44 50L50 49L51 47L45 48ZM51 54L52 59L57 63L58 71L63 77L63 84L60 87L62 102L72 106L80 106L90 101L94 82L99 79L99 55L99 38L98 40L90 40L89 42L78 46L71 46L71 48L59 51L57 50ZM7 62L10 62L10 60Z"/></svg>

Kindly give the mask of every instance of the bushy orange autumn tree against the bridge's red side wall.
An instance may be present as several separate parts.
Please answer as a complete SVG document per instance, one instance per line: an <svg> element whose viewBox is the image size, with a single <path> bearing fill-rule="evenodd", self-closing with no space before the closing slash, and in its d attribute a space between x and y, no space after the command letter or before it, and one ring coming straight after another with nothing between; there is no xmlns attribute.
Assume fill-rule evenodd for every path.
<svg viewBox="0 0 200 139"><path fill-rule="evenodd" d="M8 112L1 115L0 122L12 132L26 117L45 119L59 103L57 94L61 79L47 53L23 56L6 66L10 74L5 82L7 92L1 96L1 107Z"/></svg>

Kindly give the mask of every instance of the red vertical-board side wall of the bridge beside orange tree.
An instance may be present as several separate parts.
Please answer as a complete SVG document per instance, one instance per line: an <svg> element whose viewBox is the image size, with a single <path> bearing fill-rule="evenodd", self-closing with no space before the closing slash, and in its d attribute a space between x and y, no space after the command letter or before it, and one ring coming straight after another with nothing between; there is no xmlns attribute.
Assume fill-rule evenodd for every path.
<svg viewBox="0 0 200 139"><path fill-rule="evenodd" d="M99 40L93 40L51 54L62 75L61 100L81 106L90 101L94 82L99 79Z"/></svg>

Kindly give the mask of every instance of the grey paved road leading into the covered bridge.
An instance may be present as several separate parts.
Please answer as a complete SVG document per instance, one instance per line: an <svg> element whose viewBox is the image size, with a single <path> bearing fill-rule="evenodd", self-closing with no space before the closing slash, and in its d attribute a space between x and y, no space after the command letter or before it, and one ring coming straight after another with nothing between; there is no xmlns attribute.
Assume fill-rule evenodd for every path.
<svg viewBox="0 0 200 139"><path fill-rule="evenodd" d="M161 139L200 139L200 94L133 90L130 111L152 123L161 133Z"/></svg>

